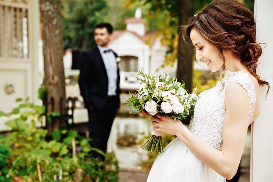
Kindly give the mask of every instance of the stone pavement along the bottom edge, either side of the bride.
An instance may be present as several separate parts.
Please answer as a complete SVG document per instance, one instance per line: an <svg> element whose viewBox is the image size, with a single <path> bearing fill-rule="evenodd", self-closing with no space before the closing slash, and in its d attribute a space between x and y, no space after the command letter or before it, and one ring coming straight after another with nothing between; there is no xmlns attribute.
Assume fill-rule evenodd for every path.
<svg viewBox="0 0 273 182"><path fill-rule="evenodd" d="M146 182L148 172L120 169L119 182ZM250 182L250 169L241 169L239 182Z"/></svg>

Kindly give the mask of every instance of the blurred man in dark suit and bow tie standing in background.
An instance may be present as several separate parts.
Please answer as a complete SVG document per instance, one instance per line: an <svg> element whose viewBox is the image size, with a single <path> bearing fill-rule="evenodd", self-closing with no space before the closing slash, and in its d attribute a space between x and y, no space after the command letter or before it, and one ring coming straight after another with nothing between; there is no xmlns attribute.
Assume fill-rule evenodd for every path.
<svg viewBox="0 0 273 182"><path fill-rule="evenodd" d="M120 75L115 52L108 48L113 27L100 23L94 30L97 44L80 56L79 88L88 110L91 147L106 153L116 112L120 108ZM93 157L104 157L93 152Z"/></svg>

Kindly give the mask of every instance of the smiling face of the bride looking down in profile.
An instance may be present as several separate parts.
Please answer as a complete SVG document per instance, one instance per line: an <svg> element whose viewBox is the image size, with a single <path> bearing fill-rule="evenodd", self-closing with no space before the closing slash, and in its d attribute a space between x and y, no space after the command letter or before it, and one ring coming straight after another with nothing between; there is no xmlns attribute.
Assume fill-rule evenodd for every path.
<svg viewBox="0 0 273 182"><path fill-rule="evenodd" d="M190 39L196 48L196 60L205 62L212 72L218 71L223 65L218 50L195 29L191 29Z"/></svg>

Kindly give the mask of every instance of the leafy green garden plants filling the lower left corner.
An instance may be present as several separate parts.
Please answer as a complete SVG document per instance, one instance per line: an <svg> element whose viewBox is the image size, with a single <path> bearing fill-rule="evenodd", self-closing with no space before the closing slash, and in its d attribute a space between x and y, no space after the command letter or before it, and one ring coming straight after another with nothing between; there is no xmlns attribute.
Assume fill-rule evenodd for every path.
<svg viewBox="0 0 273 182"><path fill-rule="evenodd" d="M59 181L63 182L74 181L76 169L83 171L83 181L117 181L119 168L113 155L90 147L90 139L79 136L75 130L54 130L52 140L46 140L47 130L35 128L36 122L42 121L45 107L36 106L29 99L17 101L23 103L12 112L0 111L1 116L14 118L5 123L11 131L0 136L0 181L8 182L16 176L23 181L38 181L37 164L41 165L43 181L52 181L54 175L59 176L60 169L63 172ZM76 157L72 155L74 139ZM92 158L89 154L92 150L104 155L106 161Z"/></svg>

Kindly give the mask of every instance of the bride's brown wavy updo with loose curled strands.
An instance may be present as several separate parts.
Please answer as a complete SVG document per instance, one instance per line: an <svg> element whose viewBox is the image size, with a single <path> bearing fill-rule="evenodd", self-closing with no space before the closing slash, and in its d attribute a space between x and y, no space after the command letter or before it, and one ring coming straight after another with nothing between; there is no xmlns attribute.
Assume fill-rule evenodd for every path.
<svg viewBox="0 0 273 182"><path fill-rule="evenodd" d="M207 5L197 16L192 17L187 25L181 26L181 32L185 41L185 35L190 37L191 29L195 29L201 36L211 43L219 52L223 61L218 77L223 85L221 75L226 68L223 50L231 51L241 57L248 72L257 80L259 85L269 83L261 80L256 73L258 58L262 48L256 42L256 23L253 13L242 3L236 0L215 0Z"/></svg>

